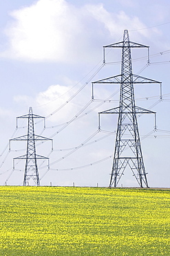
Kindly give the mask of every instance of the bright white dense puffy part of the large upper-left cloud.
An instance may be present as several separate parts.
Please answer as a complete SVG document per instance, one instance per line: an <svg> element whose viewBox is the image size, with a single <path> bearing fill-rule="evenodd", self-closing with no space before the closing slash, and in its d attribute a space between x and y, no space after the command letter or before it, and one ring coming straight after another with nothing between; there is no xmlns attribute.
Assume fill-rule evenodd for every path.
<svg viewBox="0 0 170 256"><path fill-rule="evenodd" d="M15 10L12 26L7 31L15 57L30 60L61 60L67 56L67 44L78 22L70 17L63 0L40 0L36 4ZM70 19L72 18L72 19ZM70 22L68 22L70 20Z"/></svg>

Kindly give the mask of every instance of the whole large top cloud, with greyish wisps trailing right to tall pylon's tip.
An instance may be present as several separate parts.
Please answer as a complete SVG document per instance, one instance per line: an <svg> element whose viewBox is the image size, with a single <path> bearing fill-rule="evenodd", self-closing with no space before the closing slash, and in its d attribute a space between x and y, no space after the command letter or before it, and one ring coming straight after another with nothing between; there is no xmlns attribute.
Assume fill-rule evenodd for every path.
<svg viewBox="0 0 170 256"><path fill-rule="evenodd" d="M103 4L78 8L65 0L39 0L10 15L13 21L6 28L10 48L1 56L33 62L92 60L96 44L103 44L106 35L114 42L124 29L145 27L138 17L109 13ZM145 30L140 33L147 36Z"/></svg>

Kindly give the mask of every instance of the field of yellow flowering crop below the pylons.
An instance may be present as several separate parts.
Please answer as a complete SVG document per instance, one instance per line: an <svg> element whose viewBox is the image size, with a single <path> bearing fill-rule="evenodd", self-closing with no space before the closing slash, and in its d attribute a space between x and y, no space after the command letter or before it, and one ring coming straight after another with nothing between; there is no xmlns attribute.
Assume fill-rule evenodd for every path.
<svg viewBox="0 0 170 256"><path fill-rule="evenodd" d="M169 255L168 190L0 190L0 255Z"/></svg>

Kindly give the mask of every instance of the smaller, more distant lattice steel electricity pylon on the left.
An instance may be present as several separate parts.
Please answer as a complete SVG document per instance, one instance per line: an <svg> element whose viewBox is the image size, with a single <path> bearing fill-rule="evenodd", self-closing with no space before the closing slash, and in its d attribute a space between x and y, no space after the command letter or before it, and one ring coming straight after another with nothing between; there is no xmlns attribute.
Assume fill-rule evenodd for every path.
<svg viewBox="0 0 170 256"><path fill-rule="evenodd" d="M25 172L24 172L24 179L23 179L23 185L29 185L30 179L36 183L37 186L40 185L39 181L39 171L38 171L38 165L37 165L37 159L48 159L49 158L45 156L40 156L36 154L36 140L51 140L50 138L45 138L43 136L35 135L34 134L34 118L43 118L45 121L45 118L43 116L37 116L32 113L32 107L29 109L29 113L24 116L19 116L18 118L28 118L28 134L19 136L17 138L12 138L11 140L26 140L27 141L27 151L26 154L23 156L18 156L15 159L25 159ZM45 127L45 122L44 122ZM14 167L13 167L14 168ZM49 163L48 163L49 168Z"/></svg>

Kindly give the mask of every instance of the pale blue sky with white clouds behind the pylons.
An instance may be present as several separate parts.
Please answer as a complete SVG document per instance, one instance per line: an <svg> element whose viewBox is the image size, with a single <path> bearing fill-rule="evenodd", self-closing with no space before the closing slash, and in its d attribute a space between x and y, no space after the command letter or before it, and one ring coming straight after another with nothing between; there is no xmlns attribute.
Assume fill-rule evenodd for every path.
<svg viewBox="0 0 170 256"><path fill-rule="evenodd" d="M0 185L22 185L25 141L9 140L28 132L53 139L36 143L41 185L108 187L117 126L116 115L98 112L118 107L119 85L92 82L120 74L121 50L112 48L103 64L103 46L123 40L149 46L132 49L133 73L162 82L134 86L136 105L156 112L138 116L147 181L170 187L170 3L168 0L0 0ZM112 95L112 96L111 96ZM108 102L109 100L109 102ZM14 164L13 164L14 162ZM34 185L31 183L30 185ZM118 186L138 187L130 170Z"/></svg>

